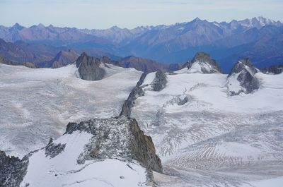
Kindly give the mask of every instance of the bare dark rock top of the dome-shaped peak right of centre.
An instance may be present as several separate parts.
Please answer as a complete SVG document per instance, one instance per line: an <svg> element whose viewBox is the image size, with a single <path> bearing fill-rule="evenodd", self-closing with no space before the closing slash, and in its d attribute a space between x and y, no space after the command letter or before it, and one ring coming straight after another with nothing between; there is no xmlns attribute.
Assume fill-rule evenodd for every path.
<svg viewBox="0 0 283 187"><path fill-rule="evenodd" d="M198 52L191 61L183 65L183 68L187 67L187 69L190 70L192 64L195 63L198 63L201 67L200 73L222 73L219 64L214 59L211 59L209 54Z"/></svg>

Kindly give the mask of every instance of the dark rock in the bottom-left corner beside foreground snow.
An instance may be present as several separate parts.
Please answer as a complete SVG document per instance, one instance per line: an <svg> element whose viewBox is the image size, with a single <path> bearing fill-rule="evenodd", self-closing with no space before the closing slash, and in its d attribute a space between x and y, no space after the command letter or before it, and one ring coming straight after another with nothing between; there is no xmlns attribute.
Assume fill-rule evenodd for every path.
<svg viewBox="0 0 283 187"><path fill-rule="evenodd" d="M28 156L9 157L0 150L0 186L19 186L28 168Z"/></svg>

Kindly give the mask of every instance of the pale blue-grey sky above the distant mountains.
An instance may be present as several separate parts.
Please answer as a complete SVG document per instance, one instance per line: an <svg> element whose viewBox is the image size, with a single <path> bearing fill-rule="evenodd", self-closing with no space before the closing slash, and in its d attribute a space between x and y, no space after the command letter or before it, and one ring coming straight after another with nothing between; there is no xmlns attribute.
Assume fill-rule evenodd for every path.
<svg viewBox="0 0 283 187"><path fill-rule="evenodd" d="M105 29L263 16L283 21L283 0L0 0L0 25Z"/></svg>

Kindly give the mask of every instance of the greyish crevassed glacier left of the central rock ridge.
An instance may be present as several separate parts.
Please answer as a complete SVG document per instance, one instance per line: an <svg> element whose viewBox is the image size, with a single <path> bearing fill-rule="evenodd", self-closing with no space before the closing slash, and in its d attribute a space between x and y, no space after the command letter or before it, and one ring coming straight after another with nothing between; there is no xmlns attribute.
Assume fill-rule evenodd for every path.
<svg viewBox="0 0 283 187"><path fill-rule="evenodd" d="M58 138L67 123L120 114L141 72L108 65L102 80L81 80L75 65L0 64L0 150L23 157Z"/></svg>

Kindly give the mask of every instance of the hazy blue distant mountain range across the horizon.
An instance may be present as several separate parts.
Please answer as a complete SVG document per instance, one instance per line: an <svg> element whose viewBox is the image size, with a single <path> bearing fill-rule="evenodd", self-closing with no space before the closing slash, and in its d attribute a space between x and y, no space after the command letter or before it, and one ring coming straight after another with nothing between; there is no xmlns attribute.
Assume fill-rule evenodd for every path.
<svg viewBox="0 0 283 187"><path fill-rule="evenodd" d="M114 60L141 56L161 64L184 64L196 52L208 52L224 72L243 58L250 58L260 68L283 63L283 24L262 17L229 23L195 18L175 25L134 29L114 26L106 30L42 24L25 28L16 23L12 27L0 26L0 38L20 47L13 52L27 53L26 61L33 62L51 61L60 51L75 49ZM3 52L1 55L7 56Z"/></svg>

